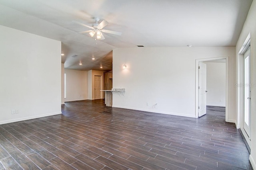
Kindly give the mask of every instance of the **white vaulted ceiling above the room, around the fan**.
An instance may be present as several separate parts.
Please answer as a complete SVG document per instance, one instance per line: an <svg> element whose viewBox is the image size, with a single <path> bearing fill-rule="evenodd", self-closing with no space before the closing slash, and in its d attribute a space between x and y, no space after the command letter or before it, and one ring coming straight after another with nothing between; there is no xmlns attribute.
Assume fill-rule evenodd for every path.
<svg viewBox="0 0 256 170"><path fill-rule="evenodd" d="M252 0L0 0L0 25L62 41L65 68L109 71L112 49L119 47L235 46L251 3ZM92 25L93 17L108 21L104 29L122 35L103 33L106 39L96 45L88 33L76 34L90 29L72 20Z"/></svg>

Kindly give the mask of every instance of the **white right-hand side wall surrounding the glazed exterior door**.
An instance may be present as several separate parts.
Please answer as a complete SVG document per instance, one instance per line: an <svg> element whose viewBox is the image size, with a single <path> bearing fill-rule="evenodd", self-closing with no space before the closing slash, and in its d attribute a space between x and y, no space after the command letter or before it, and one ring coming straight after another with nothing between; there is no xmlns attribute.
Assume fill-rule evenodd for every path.
<svg viewBox="0 0 256 170"><path fill-rule="evenodd" d="M256 0L252 2L250 10L248 12L248 16L244 23L244 27L236 44L236 61L238 62L239 50L242 48L244 41L246 40L247 35L250 33L251 36L251 83L256 84ZM238 65L236 66L236 70L238 72ZM236 82L238 82L239 75L237 74ZM238 89L237 89L238 90ZM238 101L238 94L236 96L236 100ZM236 104L237 106L240 103ZM250 162L256 170L256 88L251 88L251 154L250 154ZM240 124L240 110L236 109L236 119Z"/></svg>

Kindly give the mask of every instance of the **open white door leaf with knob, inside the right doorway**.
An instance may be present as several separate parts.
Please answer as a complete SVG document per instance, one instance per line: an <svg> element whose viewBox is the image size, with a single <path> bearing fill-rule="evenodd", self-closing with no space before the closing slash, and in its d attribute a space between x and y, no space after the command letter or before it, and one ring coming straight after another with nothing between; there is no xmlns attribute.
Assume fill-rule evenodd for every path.
<svg viewBox="0 0 256 170"><path fill-rule="evenodd" d="M206 64L198 63L198 117L206 114Z"/></svg>

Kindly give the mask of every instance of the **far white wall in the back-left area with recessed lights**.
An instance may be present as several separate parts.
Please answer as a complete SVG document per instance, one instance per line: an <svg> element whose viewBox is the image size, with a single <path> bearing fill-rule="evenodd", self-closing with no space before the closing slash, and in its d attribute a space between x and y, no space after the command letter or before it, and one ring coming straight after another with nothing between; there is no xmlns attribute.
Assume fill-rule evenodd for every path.
<svg viewBox="0 0 256 170"><path fill-rule="evenodd" d="M87 71L64 69L66 99L64 102L87 100Z"/></svg>

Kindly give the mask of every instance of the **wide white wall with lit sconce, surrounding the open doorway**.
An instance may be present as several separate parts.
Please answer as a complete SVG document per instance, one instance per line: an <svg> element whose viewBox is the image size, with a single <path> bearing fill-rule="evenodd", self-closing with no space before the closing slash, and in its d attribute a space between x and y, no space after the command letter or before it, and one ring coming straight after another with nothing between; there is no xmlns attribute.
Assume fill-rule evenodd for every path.
<svg viewBox="0 0 256 170"><path fill-rule="evenodd" d="M196 59L229 56L229 113L235 120L235 47L157 47L113 50L113 107L196 117ZM126 64L127 68L122 66ZM148 102L148 106L147 106ZM155 107L155 104L156 107Z"/></svg>

